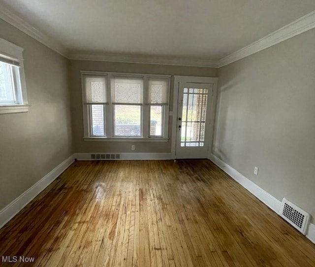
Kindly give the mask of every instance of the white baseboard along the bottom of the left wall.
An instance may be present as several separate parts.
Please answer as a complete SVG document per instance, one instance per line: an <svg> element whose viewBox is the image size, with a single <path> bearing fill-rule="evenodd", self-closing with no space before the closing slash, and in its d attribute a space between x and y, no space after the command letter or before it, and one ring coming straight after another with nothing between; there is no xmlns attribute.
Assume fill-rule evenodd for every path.
<svg viewBox="0 0 315 267"><path fill-rule="evenodd" d="M50 185L63 171L69 167L74 161L73 155L66 160L63 160L56 168L46 174L36 184L22 193L19 197L13 200L10 204L0 211L0 228L19 213L32 199L37 196L43 189Z"/></svg>

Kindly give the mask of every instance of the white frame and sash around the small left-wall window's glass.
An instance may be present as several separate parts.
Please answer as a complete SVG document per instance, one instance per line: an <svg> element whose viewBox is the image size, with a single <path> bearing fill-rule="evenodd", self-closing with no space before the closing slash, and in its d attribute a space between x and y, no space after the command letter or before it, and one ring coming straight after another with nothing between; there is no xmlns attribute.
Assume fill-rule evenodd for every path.
<svg viewBox="0 0 315 267"><path fill-rule="evenodd" d="M0 61L12 66L10 67L12 76L10 83L12 83L13 88L10 91L15 94L14 101L0 102L0 114L29 111L30 105L26 90L23 50L23 48L0 38L0 58L5 59L5 61L1 59ZM16 64L10 64L6 61L15 62Z"/></svg>

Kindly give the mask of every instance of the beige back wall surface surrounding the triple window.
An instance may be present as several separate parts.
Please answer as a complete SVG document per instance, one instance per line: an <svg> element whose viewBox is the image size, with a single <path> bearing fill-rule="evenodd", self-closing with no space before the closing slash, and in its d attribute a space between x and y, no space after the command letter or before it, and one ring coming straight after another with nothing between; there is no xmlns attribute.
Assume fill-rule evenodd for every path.
<svg viewBox="0 0 315 267"><path fill-rule="evenodd" d="M82 93L81 93L81 70L108 71L144 74L167 74L184 76L217 77L217 69L166 66L153 64L131 64L100 61L71 60L70 62L70 89L72 100L73 141L75 152L156 152L170 153L171 139L168 142L90 142L83 140L82 118ZM173 79L172 79L173 80ZM173 82L171 82L171 106L173 102ZM171 137L172 117L169 121L169 137ZM131 151L131 144L135 150Z"/></svg>

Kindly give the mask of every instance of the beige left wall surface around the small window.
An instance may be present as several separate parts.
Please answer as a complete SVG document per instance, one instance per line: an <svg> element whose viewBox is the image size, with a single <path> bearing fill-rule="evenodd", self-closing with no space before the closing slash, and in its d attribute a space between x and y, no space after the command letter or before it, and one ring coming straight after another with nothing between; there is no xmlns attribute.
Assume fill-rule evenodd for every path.
<svg viewBox="0 0 315 267"><path fill-rule="evenodd" d="M24 48L29 112L0 114L0 210L72 153L68 60L0 20Z"/></svg>

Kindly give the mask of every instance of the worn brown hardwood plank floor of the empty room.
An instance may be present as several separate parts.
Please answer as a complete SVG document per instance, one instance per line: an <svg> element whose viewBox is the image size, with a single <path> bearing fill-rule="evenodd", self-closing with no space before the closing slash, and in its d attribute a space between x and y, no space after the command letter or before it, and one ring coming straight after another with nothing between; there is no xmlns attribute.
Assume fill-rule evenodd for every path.
<svg viewBox="0 0 315 267"><path fill-rule="evenodd" d="M77 161L0 230L2 256L48 267L314 267L315 245L209 160Z"/></svg>

